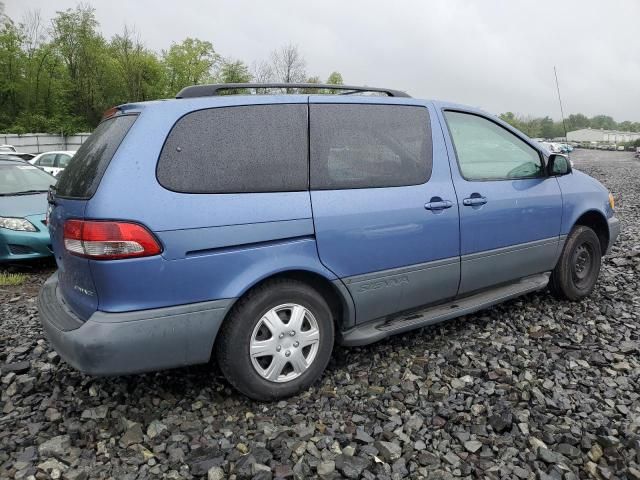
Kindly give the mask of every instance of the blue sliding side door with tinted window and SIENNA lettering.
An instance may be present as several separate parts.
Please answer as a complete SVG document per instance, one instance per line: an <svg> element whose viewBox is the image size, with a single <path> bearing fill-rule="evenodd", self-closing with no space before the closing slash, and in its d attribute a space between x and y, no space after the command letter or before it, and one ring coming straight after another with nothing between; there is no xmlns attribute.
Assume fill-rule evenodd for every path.
<svg viewBox="0 0 640 480"><path fill-rule="evenodd" d="M433 128L427 104L379 102L310 99L318 250L358 322L453 297L459 281L458 209L437 120Z"/></svg>

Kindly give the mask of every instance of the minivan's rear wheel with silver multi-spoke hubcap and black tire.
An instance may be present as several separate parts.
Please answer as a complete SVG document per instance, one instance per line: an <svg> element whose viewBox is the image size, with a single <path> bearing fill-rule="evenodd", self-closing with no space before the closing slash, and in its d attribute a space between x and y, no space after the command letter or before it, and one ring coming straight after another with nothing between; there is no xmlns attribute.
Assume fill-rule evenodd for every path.
<svg viewBox="0 0 640 480"><path fill-rule="evenodd" d="M291 327L292 334L294 317L299 326ZM237 390L254 400L277 400L320 378L334 337L324 297L304 282L277 279L238 300L218 332L216 358Z"/></svg>

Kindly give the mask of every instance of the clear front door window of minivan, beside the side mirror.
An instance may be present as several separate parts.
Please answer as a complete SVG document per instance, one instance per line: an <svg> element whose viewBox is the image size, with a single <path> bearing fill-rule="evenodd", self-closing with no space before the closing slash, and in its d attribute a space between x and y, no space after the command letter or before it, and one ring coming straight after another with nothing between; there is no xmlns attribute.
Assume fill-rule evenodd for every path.
<svg viewBox="0 0 640 480"><path fill-rule="evenodd" d="M470 113L444 112L466 180L516 180L543 176L540 154L500 125Z"/></svg>

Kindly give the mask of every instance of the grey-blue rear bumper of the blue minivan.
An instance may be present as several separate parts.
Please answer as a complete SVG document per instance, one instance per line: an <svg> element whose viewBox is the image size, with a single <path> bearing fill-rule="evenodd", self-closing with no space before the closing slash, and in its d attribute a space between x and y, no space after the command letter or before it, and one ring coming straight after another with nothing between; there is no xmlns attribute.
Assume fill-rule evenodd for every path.
<svg viewBox="0 0 640 480"><path fill-rule="evenodd" d="M95 312L86 322L58 292L58 274L40 290L47 339L71 366L121 375L206 363L232 299L125 313Z"/></svg>

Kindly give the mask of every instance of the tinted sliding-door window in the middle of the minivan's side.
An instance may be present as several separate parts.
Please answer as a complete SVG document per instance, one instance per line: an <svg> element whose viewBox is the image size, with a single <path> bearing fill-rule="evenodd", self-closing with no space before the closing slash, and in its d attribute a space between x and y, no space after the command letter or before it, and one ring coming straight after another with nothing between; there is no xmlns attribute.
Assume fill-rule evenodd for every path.
<svg viewBox="0 0 640 480"><path fill-rule="evenodd" d="M311 188L399 187L429 180L429 113L411 105L310 106Z"/></svg>

